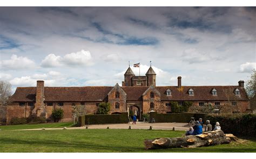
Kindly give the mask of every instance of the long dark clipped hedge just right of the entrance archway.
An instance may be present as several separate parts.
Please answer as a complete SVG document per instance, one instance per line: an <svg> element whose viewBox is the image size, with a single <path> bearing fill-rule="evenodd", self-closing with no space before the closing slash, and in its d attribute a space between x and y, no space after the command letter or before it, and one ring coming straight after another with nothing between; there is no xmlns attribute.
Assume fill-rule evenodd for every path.
<svg viewBox="0 0 256 159"><path fill-rule="evenodd" d="M158 114L157 112L150 112L150 122L154 118L155 122L189 122L191 117L194 117L195 120L199 118L203 119L203 122L206 121L205 113L171 113L171 114Z"/></svg>

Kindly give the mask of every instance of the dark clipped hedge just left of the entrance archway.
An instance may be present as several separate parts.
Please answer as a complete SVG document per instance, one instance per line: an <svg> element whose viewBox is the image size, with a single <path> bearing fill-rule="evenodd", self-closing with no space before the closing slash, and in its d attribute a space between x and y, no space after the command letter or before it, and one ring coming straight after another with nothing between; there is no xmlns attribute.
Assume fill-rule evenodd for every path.
<svg viewBox="0 0 256 159"><path fill-rule="evenodd" d="M78 126L91 124L121 124L128 122L128 113L111 114L111 115L84 115L79 117Z"/></svg>

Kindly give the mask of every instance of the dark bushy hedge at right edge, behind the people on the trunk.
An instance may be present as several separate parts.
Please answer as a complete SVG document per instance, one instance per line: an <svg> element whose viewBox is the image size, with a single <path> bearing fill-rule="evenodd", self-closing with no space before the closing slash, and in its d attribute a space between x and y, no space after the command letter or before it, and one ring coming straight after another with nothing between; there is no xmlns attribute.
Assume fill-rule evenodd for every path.
<svg viewBox="0 0 256 159"><path fill-rule="evenodd" d="M226 134L237 136L255 136L256 134L256 114L208 114L206 118L211 121L213 127L218 121L221 130Z"/></svg>

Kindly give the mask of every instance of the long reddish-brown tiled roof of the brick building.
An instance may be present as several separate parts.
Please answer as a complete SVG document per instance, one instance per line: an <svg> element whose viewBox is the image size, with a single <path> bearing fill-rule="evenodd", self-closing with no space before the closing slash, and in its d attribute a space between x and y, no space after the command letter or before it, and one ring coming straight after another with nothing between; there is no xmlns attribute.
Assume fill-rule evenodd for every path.
<svg viewBox="0 0 256 159"><path fill-rule="evenodd" d="M113 86L82 86L82 87L44 87L45 102L76 102L76 101L102 101L107 99L107 93ZM143 93L148 86L121 87L127 94L126 100L142 100ZM240 90L240 96L235 96L234 90ZM156 86L160 92L161 100L248 100L244 88L232 86ZM171 96L166 96L166 90L171 90ZM193 89L194 96L188 95ZM212 89L217 90L213 96ZM10 97L12 102L32 102L36 99L36 87L18 87Z"/></svg>

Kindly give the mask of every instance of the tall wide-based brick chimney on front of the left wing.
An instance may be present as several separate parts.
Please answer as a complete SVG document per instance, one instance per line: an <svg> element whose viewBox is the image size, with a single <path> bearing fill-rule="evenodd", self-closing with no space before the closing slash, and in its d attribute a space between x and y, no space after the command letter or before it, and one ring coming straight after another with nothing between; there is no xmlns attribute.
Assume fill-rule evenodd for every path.
<svg viewBox="0 0 256 159"><path fill-rule="evenodd" d="M43 116L47 118L47 113L44 106L44 81L37 81L36 85L36 104L32 111L37 117Z"/></svg>

